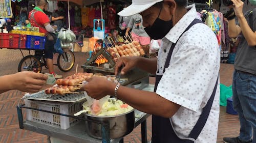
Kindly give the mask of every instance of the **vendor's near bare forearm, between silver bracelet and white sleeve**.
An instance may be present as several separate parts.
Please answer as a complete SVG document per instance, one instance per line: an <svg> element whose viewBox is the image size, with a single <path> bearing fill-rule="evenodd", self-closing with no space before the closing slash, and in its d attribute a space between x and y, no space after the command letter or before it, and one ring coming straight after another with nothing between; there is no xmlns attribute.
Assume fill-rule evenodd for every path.
<svg viewBox="0 0 256 143"><path fill-rule="evenodd" d="M111 84L109 88L109 95L114 95L115 84ZM141 91L123 86L118 88L117 98L140 111L164 118L172 117L180 108L180 105L166 100L154 92Z"/></svg>

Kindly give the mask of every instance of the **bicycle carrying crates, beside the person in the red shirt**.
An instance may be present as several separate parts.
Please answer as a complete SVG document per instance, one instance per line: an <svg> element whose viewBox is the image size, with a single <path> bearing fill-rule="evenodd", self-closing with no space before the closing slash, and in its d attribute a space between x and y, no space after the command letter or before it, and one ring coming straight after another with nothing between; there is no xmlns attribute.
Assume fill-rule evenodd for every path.
<svg viewBox="0 0 256 143"><path fill-rule="evenodd" d="M35 49L31 49L35 50ZM34 71L37 73L40 73L42 71L42 67L45 67L48 69L46 65L46 59L45 59L45 50L35 50L35 54L31 55L29 50L29 55L24 56L23 59L18 64L18 72L20 71ZM63 71L67 72L70 71L75 64L75 55L71 50L64 50L62 54L58 55L57 58L57 64L53 64L55 66L58 66L58 68Z"/></svg>

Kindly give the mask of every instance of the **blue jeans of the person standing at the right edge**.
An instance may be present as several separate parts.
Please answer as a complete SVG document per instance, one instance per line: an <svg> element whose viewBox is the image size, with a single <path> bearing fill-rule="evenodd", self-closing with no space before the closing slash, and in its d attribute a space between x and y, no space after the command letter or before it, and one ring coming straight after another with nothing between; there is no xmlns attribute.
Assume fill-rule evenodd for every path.
<svg viewBox="0 0 256 143"><path fill-rule="evenodd" d="M234 70L233 73L233 108L238 112L242 141L252 137L256 143L256 75Z"/></svg>

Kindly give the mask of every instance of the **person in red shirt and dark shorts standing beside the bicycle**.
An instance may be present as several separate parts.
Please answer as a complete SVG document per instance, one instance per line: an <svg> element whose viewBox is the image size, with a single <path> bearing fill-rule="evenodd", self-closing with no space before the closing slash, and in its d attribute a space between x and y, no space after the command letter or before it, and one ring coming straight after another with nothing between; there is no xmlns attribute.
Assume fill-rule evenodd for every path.
<svg viewBox="0 0 256 143"><path fill-rule="evenodd" d="M44 13L43 10L47 10L48 8L48 0L38 0L37 7L35 7L29 13L29 21L31 26L39 27L40 33L55 33L56 26L50 25L49 17ZM53 50L54 50L54 41L48 40L46 38L45 44L45 59L46 64L49 69L49 73L54 74L55 78L61 78L61 75L57 75L53 70Z"/></svg>

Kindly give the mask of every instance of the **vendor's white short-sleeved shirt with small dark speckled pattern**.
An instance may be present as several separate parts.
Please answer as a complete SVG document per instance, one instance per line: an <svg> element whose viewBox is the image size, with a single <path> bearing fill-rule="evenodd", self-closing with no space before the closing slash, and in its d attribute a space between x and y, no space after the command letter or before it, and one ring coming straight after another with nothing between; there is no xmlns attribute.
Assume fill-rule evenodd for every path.
<svg viewBox="0 0 256 143"><path fill-rule="evenodd" d="M171 118L176 134L187 137L198 121L203 107L214 90L220 69L220 48L214 32L203 23L193 25L182 36L188 25L198 17L195 5L162 39L158 54L157 75L163 75L156 93L181 105ZM181 37L180 37L181 36ZM180 37L180 39L179 39ZM178 40L179 39L179 40ZM176 43L169 67L164 64L173 43ZM219 81L208 120L197 138L197 143L217 141L219 122Z"/></svg>

